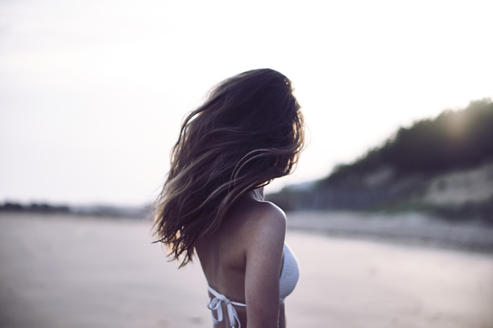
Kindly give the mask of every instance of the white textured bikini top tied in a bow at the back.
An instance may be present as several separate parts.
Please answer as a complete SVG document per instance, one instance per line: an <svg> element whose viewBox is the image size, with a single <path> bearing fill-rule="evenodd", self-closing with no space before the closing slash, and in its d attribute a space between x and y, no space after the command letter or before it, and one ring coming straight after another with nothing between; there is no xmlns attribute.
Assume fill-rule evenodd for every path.
<svg viewBox="0 0 493 328"><path fill-rule="evenodd" d="M291 249L284 243L284 257L282 260L281 277L279 278L280 302L283 302L284 298L292 293L294 287L296 287L299 276L300 271L298 268L298 261L296 261ZM246 304L233 302L229 298L212 289L210 286L207 286L207 289L212 295L214 295L214 298L209 298L207 301L207 308L211 310L211 317L214 325L222 322L223 320L221 302L224 302L228 312L229 324L234 328L236 327L236 323L238 323L238 328L241 328L242 325L240 323L240 318L238 317L238 313L233 305L246 306ZM217 318L214 317L214 311L217 312Z"/></svg>

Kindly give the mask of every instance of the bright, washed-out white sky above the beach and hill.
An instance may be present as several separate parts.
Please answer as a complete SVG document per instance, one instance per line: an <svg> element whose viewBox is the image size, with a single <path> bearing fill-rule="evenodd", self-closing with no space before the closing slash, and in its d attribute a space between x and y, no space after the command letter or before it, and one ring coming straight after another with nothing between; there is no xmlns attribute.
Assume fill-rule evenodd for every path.
<svg viewBox="0 0 493 328"><path fill-rule="evenodd" d="M270 67L319 179L399 125L493 97L493 1L0 0L0 202L141 205L183 115Z"/></svg>

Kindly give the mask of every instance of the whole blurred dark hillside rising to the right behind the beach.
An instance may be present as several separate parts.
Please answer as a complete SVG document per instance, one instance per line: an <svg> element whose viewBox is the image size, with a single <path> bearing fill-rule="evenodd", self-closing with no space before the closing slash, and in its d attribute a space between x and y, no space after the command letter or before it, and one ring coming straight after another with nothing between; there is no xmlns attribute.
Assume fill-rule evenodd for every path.
<svg viewBox="0 0 493 328"><path fill-rule="evenodd" d="M493 103L401 127L310 188L268 195L286 210L426 210L493 223Z"/></svg>

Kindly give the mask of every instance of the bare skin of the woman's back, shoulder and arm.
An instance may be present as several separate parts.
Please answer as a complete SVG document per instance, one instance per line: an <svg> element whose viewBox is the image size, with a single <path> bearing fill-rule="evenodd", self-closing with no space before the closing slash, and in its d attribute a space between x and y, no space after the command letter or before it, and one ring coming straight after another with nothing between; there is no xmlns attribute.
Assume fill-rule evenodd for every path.
<svg viewBox="0 0 493 328"><path fill-rule="evenodd" d="M232 301L247 304L235 306L242 327L247 321L248 327L280 327L279 276L285 226L281 209L249 192L231 208L214 234L196 244L209 286ZM226 305L221 306L226 314ZM227 321L215 327L229 327Z"/></svg>

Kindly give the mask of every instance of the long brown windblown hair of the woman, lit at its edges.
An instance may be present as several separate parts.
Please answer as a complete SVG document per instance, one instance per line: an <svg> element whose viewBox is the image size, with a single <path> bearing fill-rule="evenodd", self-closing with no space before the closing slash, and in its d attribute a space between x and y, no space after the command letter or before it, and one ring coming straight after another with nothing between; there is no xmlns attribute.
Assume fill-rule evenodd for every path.
<svg viewBox="0 0 493 328"><path fill-rule="evenodd" d="M304 121L291 81L272 69L235 75L184 119L154 207L154 236L179 267L246 192L291 173Z"/></svg>

